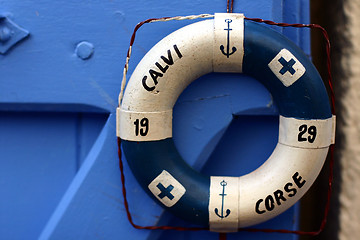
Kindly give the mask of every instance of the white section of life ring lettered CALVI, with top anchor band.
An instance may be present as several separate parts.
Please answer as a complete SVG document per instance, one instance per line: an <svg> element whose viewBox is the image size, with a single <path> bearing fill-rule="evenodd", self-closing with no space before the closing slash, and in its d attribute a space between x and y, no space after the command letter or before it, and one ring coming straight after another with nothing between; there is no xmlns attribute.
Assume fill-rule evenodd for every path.
<svg viewBox="0 0 360 240"><path fill-rule="evenodd" d="M222 15L219 16L220 21L223 21ZM241 14L231 14L231 18L234 23L243 22L243 15ZM227 64L231 66L239 64L240 67L238 66L235 70L241 72L243 26L235 27L234 32L231 31L230 33L230 37L234 35L230 40L238 48L234 53L236 54L234 55L236 57L235 62L232 60L232 56L227 58L222 55L220 49L217 52L222 55L221 58L219 57L213 62L213 49L216 47L214 47L214 21L217 20L206 20L190 24L157 43L144 56L131 75L121 108L135 112L169 111L173 108L181 92L200 76L214 72L214 70L227 71ZM225 26L227 27L227 24ZM198 34L199 32L202 34ZM219 38L216 41L220 41L220 38L227 36L227 31L222 30L222 32L220 35L218 34ZM226 50L227 39L223 39L222 42ZM175 45L181 56L175 51ZM169 51L174 61L171 65L166 64L163 58L168 57ZM167 68L166 72L162 72L156 63L160 64L162 68ZM156 71L162 76L157 77L155 81L149 74L150 70ZM150 91L143 86L145 76L145 82L151 88Z"/></svg>

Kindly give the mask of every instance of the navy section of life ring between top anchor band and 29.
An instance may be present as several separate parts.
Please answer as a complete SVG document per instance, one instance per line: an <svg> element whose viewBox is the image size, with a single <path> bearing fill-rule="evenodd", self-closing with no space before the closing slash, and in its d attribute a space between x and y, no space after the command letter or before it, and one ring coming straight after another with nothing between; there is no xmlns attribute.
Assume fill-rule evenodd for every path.
<svg viewBox="0 0 360 240"><path fill-rule="evenodd" d="M331 109L324 83L305 53L280 33L245 20L243 72L260 81L271 93L279 114L297 119L327 119ZM305 74L285 87L268 64L282 50L289 50L305 67Z"/></svg>

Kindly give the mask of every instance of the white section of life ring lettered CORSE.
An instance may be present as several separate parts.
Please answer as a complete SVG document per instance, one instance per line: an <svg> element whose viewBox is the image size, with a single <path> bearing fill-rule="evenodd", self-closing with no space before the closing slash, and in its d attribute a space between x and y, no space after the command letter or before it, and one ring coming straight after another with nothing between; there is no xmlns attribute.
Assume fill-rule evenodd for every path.
<svg viewBox="0 0 360 240"><path fill-rule="evenodd" d="M279 215L298 201L310 188L318 176L326 155L328 147L319 149L304 149L290 147L278 143L269 159L255 171L241 176L239 184L239 227L247 227L264 222ZM294 174L306 183L301 188L296 188L296 194L289 197L285 191L285 185L293 181ZM274 192L281 190L286 201L281 205L275 203L272 211L266 211L259 215L255 212L255 204L259 199L264 199ZM264 210L264 202L261 202L260 210Z"/></svg>

